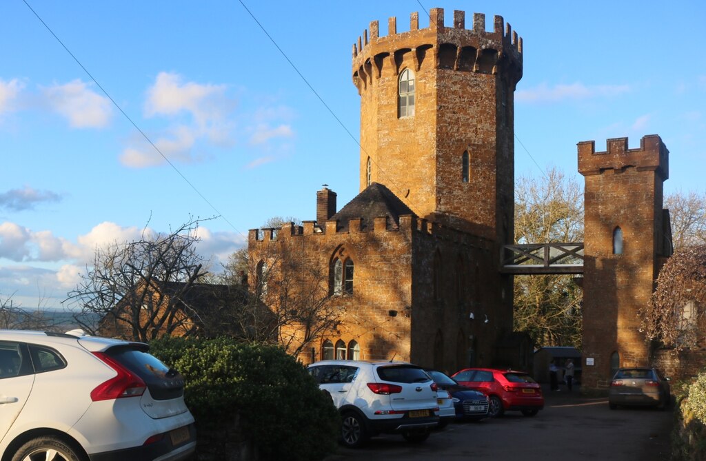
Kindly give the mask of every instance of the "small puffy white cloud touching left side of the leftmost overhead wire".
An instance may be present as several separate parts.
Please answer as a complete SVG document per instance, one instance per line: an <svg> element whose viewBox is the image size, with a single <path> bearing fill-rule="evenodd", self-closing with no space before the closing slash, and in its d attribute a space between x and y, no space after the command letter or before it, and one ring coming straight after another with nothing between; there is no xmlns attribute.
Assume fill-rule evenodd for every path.
<svg viewBox="0 0 706 461"><path fill-rule="evenodd" d="M90 90L81 80L43 90L50 107L65 116L74 128L101 128L110 121L110 100Z"/></svg>

